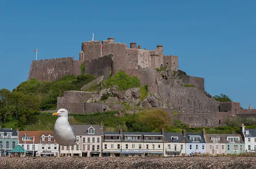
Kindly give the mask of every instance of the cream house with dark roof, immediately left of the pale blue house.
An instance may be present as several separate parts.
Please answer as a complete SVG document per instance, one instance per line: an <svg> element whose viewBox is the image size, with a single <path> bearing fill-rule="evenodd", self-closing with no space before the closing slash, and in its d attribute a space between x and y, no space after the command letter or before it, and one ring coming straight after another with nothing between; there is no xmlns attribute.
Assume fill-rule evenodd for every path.
<svg viewBox="0 0 256 169"><path fill-rule="evenodd" d="M182 133L164 133L164 156L186 154L186 130Z"/></svg>

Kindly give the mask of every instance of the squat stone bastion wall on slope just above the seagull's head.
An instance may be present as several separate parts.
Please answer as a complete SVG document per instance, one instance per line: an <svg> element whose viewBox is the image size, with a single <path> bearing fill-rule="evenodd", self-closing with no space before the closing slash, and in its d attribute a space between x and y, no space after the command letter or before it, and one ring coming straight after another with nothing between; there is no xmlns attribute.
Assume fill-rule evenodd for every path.
<svg viewBox="0 0 256 169"><path fill-rule="evenodd" d="M66 91L63 97L58 97L57 109L67 109L69 113L84 113L84 102L91 96L92 92Z"/></svg>

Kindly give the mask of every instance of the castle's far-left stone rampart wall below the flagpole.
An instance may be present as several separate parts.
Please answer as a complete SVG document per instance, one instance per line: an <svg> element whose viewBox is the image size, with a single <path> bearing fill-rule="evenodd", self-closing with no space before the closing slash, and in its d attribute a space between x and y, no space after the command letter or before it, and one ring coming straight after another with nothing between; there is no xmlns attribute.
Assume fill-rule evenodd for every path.
<svg viewBox="0 0 256 169"><path fill-rule="evenodd" d="M39 81L54 81L65 75L79 75L82 62L74 60L74 57L33 60L28 80L36 78Z"/></svg>

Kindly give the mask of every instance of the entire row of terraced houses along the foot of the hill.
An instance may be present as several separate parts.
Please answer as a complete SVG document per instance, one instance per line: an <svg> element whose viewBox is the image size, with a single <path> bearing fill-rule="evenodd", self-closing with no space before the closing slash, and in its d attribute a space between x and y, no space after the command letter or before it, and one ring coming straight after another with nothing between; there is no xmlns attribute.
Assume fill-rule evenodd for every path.
<svg viewBox="0 0 256 169"><path fill-rule="evenodd" d="M164 132L104 132L100 125L72 125L77 135L77 145L59 146L52 131L18 131L0 129L1 156L26 155L56 156L128 156L157 155L180 156L191 153L233 154L256 152L256 129L245 129L240 134L206 134ZM26 137L25 137L26 135ZM26 143L25 143L26 139ZM25 150L24 150L25 149ZM15 152L16 150L16 152ZM18 154L18 151L20 151ZM13 153L12 153L13 152Z"/></svg>

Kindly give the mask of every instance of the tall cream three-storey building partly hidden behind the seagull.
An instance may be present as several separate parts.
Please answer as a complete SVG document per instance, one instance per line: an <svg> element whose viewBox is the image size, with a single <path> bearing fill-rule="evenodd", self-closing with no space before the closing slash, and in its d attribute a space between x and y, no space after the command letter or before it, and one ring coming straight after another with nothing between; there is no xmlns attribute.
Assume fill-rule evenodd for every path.
<svg viewBox="0 0 256 169"><path fill-rule="evenodd" d="M77 136L77 145L61 146L61 155L80 157L101 157L103 126L100 125L71 125ZM70 149L70 150L69 150Z"/></svg>

